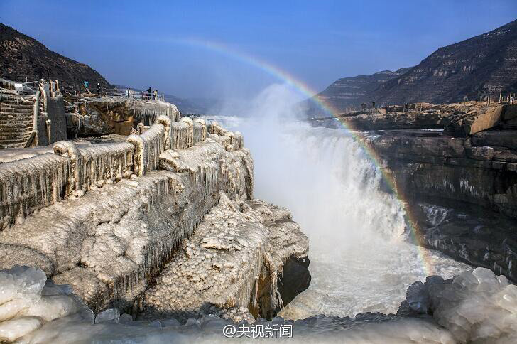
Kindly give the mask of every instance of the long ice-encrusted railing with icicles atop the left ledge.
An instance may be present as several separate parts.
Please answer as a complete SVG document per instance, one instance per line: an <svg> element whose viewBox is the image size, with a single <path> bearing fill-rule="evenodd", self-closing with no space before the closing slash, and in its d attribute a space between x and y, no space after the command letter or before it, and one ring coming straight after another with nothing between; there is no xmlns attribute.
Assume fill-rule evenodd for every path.
<svg viewBox="0 0 517 344"><path fill-rule="evenodd" d="M143 129L143 128L142 128ZM16 220L70 196L81 196L104 183L143 176L159 168L160 154L168 149L187 149L210 138L224 149L240 149L242 135L203 119L184 117L171 122L161 115L141 135L126 142L77 145L72 141L54 144L55 154L0 165L0 230Z"/></svg>

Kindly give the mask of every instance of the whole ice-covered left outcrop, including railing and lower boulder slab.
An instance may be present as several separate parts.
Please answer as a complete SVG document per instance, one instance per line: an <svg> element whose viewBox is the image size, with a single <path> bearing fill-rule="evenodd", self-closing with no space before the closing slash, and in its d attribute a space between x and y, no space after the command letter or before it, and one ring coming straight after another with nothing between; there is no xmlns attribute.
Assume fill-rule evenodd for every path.
<svg viewBox="0 0 517 344"><path fill-rule="evenodd" d="M124 141L58 141L1 164L0 267L37 267L96 312L186 321L210 304L235 320L273 317L283 264L307 256L307 237L288 210L252 198L239 132L173 120L162 114ZM304 278L288 292L303 291Z"/></svg>

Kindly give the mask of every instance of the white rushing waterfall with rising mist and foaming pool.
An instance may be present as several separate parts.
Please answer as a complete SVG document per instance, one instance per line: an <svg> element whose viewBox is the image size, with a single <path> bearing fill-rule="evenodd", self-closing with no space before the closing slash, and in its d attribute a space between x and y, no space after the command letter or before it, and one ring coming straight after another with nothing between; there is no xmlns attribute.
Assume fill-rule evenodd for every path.
<svg viewBox="0 0 517 344"><path fill-rule="evenodd" d="M224 125L243 131L254 156L254 196L288 208L310 238L312 282L281 316L396 313L414 281L471 269L405 241L401 201L379 190L381 168L347 130L285 119L290 109L266 99L253 119Z"/></svg>

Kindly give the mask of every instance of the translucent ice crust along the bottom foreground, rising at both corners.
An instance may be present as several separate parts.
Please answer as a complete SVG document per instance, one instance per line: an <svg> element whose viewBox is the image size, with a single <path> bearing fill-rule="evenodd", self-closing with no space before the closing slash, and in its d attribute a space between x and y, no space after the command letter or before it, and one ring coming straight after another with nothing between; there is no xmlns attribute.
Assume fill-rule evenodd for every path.
<svg viewBox="0 0 517 344"><path fill-rule="evenodd" d="M224 312L188 318L183 325L175 318L134 321L116 309L94 319L66 286L45 284L45 274L38 269L1 270L0 281L0 336L6 341L18 338L19 343L222 343L228 341L222 329L229 324L292 325L293 338L283 338L286 343L516 343L517 288L484 268L464 272L454 281L434 276L425 284L415 284L406 303L428 299L430 314L415 308L412 316L362 313L353 318L311 316L298 321L276 317L251 325L246 319L236 322ZM13 302L19 303L18 311L10 311ZM244 310L227 310L232 311ZM232 340L249 343L250 339Z"/></svg>

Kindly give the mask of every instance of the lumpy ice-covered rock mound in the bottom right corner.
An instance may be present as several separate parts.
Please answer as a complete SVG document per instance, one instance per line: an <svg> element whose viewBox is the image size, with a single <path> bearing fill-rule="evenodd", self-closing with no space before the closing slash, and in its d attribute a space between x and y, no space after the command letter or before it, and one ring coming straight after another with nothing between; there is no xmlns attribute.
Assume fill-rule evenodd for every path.
<svg viewBox="0 0 517 344"><path fill-rule="evenodd" d="M478 267L453 280L415 282L399 315L429 313L458 343L517 343L517 286Z"/></svg>

